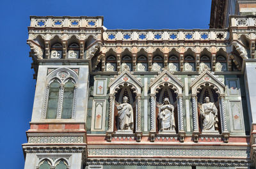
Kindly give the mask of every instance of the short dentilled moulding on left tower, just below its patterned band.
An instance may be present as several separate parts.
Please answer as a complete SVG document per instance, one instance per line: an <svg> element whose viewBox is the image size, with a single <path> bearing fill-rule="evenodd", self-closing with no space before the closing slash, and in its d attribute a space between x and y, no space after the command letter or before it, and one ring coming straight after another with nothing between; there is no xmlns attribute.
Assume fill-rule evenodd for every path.
<svg viewBox="0 0 256 169"><path fill-rule="evenodd" d="M86 145L51 145L51 146L22 146L26 153L83 153L86 152Z"/></svg>

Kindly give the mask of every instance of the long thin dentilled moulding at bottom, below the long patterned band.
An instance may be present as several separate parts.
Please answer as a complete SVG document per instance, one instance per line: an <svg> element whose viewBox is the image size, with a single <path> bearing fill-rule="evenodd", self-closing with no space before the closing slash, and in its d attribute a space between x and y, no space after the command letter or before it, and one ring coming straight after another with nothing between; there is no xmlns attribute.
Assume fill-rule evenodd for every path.
<svg viewBox="0 0 256 169"><path fill-rule="evenodd" d="M166 158L88 158L86 165L154 165L154 166L250 166L252 161L247 159L166 159Z"/></svg>

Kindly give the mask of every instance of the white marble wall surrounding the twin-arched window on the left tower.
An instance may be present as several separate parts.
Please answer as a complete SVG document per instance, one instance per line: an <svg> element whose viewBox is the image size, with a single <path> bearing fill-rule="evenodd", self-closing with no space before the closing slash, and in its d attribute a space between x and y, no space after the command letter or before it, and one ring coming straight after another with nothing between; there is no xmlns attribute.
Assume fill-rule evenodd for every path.
<svg viewBox="0 0 256 169"><path fill-rule="evenodd" d="M45 89L47 86L47 70L48 68L79 68L78 84L77 84L77 104L76 115L74 119L42 119L44 108ZM86 122L87 102L88 102L88 82L89 68L88 66L39 66L38 77L36 82L35 99L33 105L33 113L31 122Z"/></svg>

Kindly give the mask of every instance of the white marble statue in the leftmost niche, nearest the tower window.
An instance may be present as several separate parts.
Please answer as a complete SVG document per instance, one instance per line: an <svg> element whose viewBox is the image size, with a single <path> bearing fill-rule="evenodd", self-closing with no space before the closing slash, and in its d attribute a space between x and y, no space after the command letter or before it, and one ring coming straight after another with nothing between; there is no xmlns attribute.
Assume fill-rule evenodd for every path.
<svg viewBox="0 0 256 169"><path fill-rule="evenodd" d="M127 101L127 96L124 96L123 103L117 107L118 124L121 130L133 130L133 109Z"/></svg>

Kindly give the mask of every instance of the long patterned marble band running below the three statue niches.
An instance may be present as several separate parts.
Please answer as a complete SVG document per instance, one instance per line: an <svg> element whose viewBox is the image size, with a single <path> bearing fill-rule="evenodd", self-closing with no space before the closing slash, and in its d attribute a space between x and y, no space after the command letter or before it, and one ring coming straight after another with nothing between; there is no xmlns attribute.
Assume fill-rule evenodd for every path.
<svg viewBox="0 0 256 169"><path fill-rule="evenodd" d="M91 147L89 158L250 158L248 147Z"/></svg>

